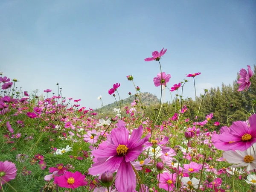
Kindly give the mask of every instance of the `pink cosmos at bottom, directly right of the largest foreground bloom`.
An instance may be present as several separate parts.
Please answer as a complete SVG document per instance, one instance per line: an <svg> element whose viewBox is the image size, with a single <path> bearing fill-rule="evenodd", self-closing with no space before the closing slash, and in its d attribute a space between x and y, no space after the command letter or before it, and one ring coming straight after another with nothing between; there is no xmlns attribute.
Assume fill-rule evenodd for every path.
<svg viewBox="0 0 256 192"><path fill-rule="evenodd" d="M158 178L159 176L157 176ZM169 174L167 172L160 174L159 187L166 191L173 191L175 188L176 174Z"/></svg>

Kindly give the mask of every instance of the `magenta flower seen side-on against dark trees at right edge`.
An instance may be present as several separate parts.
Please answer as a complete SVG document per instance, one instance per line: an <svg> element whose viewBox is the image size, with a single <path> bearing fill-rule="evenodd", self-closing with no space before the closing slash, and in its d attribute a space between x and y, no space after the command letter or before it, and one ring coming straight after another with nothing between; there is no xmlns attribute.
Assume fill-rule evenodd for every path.
<svg viewBox="0 0 256 192"><path fill-rule="evenodd" d="M239 85L238 91L244 90L246 87L246 90L250 87L250 78L253 76L253 71L250 68L250 65L247 65L248 67L248 73L245 69L241 69L239 75L241 76L239 80L237 81Z"/></svg>

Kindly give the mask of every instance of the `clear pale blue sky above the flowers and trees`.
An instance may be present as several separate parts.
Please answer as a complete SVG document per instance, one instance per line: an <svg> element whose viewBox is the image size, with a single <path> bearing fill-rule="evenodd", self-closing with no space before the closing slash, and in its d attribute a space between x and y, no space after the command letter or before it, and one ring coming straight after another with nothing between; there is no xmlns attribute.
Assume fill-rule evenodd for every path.
<svg viewBox="0 0 256 192"><path fill-rule="evenodd" d="M160 97L153 78L153 51L171 74L170 88L184 79L184 97L233 84L237 73L256 64L255 0L1 0L0 71L17 87L52 89L81 99L86 108L115 101L108 90L116 82L121 99L134 85ZM166 90L165 101L171 99ZM175 96L175 92L172 96ZM52 94L49 94L52 96ZM47 94L44 93L44 96Z"/></svg>

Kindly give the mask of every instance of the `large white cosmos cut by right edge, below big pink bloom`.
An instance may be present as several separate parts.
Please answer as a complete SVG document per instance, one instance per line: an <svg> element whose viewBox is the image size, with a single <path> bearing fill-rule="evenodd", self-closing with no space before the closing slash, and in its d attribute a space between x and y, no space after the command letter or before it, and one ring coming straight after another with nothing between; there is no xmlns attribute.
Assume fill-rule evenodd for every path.
<svg viewBox="0 0 256 192"><path fill-rule="evenodd" d="M238 165L232 165L230 167L242 167L247 166L246 171L256 169L256 154L253 151L256 148L256 143L245 151L225 151L223 158L227 160L228 163L235 163Z"/></svg>

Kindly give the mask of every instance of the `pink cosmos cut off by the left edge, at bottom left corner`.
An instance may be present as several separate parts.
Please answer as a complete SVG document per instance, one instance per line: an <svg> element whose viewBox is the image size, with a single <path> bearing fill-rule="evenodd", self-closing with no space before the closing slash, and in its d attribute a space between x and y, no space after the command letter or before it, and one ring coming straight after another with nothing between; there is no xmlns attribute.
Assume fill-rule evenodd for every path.
<svg viewBox="0 0 256 192"><path fill-rule="evenodd" d="M14 163L10 161L0 161L0 183L2 185L9 182L10 180L15 179L16 175L17 168Z"/></svg>

